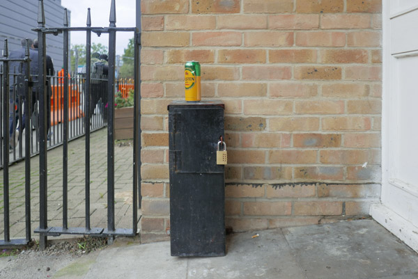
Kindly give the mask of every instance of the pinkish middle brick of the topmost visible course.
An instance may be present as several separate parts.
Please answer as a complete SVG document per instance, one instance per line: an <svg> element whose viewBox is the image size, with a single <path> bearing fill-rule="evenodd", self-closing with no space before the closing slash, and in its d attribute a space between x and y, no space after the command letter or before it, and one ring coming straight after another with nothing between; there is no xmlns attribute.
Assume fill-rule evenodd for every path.
<svg viewBox="0 0 418 279"><path fill-rule="evenodd" d="M244 13L291 13L293 0L243 0Z"/></svg>

